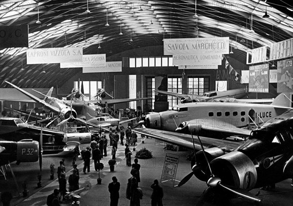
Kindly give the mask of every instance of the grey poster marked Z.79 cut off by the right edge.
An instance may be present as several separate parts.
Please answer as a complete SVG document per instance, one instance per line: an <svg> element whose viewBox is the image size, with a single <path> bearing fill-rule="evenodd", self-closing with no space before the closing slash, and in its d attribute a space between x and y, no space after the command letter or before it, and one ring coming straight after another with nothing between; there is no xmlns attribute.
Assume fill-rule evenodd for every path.
<svg viewBox="0 0 293 206"><path fill-rule="evenodd" d="M277 92L293 92L293 59L278 61Z"/></svg>

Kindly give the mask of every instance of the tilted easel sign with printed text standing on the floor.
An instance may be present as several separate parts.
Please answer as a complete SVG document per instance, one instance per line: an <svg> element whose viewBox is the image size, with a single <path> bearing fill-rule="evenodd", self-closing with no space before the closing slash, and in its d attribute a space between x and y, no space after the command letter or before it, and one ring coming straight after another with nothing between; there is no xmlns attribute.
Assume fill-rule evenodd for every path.
<svg viewBox="0 0 293 206"><path fill-rule="evenodd" d="M161 177L161 183L172 181L173 186L177 186L174 184L175 184L175 181L180 182L178 180L175 180L178 163L179 163L179 155L175 155L171 153L166 154L162 177Z"/></svg>

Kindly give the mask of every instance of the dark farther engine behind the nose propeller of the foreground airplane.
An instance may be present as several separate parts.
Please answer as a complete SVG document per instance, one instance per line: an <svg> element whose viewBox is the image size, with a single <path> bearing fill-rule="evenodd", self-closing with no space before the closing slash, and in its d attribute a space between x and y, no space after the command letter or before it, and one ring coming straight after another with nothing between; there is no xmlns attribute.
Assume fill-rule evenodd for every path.
<svg viewBox="0 0 293 206"><path fill-rule="evenodd" d="M225 154L225 152L222 149L219 149L217 147L205 149L205 153L209 163L215 158ZM194 175L201 181L207 181L209 179L209 174L206 175L206 169L208 164L205 159L203 150L196 152L195 157L196 158L193 157L191 160L191 167L196 164L195 168L193 168ZM195 163L195 159L196 159L196 163Z"/></svg>

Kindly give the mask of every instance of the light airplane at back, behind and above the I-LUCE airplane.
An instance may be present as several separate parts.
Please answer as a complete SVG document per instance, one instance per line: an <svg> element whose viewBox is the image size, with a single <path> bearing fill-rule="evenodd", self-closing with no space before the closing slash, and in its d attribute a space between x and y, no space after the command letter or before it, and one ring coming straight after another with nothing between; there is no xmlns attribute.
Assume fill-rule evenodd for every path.
<svg viewBox="0 0 293 206"><path fill-rule="evenodd" d="M181 103L195 103L195 102L235 102L237 98L242 98L247 95L247 88L231 89L228 91L209 91L205 92L202 96L194 94L180 94L162 90L154 90L159 94L169 95L180 99Z"/></svg>

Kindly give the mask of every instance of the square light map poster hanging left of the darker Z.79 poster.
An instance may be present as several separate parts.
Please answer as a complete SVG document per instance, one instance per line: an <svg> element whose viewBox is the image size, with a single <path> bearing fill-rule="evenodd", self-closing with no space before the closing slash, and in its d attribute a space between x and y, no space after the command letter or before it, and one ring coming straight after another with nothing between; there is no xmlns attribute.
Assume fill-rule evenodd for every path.
<svg viewBox="0 0 293 206"><path fill-rule="evenodd" d="M249 92L269 92L269 64L249 67Z"/></svg>

